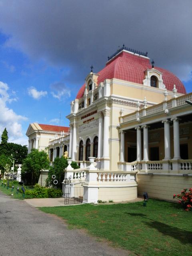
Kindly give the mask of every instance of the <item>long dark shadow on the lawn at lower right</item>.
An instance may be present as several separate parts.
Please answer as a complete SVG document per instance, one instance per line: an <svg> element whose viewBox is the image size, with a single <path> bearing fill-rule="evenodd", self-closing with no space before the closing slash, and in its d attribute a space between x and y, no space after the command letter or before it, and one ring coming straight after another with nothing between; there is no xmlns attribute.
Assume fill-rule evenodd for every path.
<svg viewBox="0 0 192 256"><path fill-rule="evenodd" d="M159 232L166 236L172 236L179 240L182 244L192 244L192 232L174 228L158 221L144 222L150 228L156 228Z"/></svg>

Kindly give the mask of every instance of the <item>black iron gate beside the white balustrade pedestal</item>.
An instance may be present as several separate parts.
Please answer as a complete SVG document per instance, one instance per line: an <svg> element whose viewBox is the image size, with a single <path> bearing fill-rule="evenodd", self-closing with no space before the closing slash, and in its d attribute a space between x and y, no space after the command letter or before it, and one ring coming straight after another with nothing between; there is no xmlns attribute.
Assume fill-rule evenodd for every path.
<svg viewBox="0 0 192 256"><path fill-rule="evenodd" d="M79 179L63 181L65 204L81 204L83 202L83 183Z"/></svg>

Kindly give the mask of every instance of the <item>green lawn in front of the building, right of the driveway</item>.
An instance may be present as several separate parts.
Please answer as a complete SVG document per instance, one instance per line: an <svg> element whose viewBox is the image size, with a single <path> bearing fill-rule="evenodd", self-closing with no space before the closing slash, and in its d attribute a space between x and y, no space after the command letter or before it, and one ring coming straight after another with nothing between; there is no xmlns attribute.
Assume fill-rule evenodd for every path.
<svg viewBox="0 0 192 256"><path fill-rule="evenodd" d="M137 202L39 209L136 255L192 256L192 212L178 204L150 199L146 207Z"/></svg>

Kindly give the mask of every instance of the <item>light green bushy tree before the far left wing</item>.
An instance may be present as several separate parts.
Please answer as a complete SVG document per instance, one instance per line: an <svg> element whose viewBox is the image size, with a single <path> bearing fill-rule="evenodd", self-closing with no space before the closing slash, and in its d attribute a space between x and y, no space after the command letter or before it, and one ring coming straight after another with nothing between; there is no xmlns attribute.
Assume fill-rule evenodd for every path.
<svg viewBox="0 0 192 256"><path fill-rule="evenodd" d="M21 177L26 184L34 185L38 182L42 169L49 168L48 154L44 151L32 149L31 153L23 160Z"/></svg>

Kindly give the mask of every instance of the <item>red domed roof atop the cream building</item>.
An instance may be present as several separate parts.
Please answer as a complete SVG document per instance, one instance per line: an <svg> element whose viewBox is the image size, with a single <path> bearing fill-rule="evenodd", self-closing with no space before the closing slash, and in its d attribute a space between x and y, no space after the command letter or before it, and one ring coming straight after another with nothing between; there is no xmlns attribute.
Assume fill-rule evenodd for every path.
<svg viewBox="0 0 192 256"><path fill-rule="evenodd" d="M174 84L177 92L186 94L186 90L182 82L170 71L163 68L154 67L162 73L163 83L167 90L171 91ZM138 56L126 51L120 52L117 56L107 62L106 67L98 74L97 84L104 82L105 79L117 78L137 84L143 84L145 79L145 70L151 69L150 59L143 56ZM85 90L85 84L80 88L76 98L80 99Z"/></svg>

